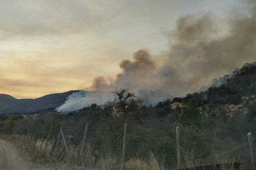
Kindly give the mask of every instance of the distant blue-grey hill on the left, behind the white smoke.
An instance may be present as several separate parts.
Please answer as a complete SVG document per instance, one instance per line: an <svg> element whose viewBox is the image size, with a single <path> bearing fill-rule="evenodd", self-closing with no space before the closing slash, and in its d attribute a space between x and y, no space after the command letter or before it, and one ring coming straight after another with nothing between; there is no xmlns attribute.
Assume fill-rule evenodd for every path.
<svg viewBox="0 0 256 170"><path fill-rule="evenodd" d="M16 99L7 94L0 94L0 113L28 113L55 109L66 101L67 97L77 91L49 94L37 99Z"/></svg>

